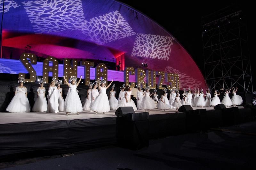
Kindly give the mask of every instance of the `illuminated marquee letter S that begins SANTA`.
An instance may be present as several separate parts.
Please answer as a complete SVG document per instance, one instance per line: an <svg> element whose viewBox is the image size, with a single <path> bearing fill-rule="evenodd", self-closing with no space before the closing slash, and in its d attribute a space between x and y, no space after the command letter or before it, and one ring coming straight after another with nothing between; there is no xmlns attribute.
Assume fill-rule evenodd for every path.
<svg viewBox="0 0 256 170"><path fill-rule="evenodd" d="M28 58L30 59L30 63L28 61ZM36 55L30 54L30 53L22 53L20 55L20 61L23 63L25 68L28 70L28 73L30 74L30 78L25 78L25 73L19 73L19 77L24 77L26 82L35 82L36 81L36 71L32 67L31 64L36 64Z"/></svg>

